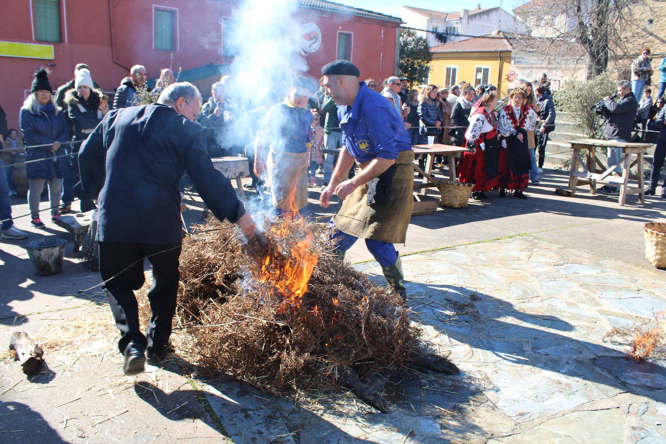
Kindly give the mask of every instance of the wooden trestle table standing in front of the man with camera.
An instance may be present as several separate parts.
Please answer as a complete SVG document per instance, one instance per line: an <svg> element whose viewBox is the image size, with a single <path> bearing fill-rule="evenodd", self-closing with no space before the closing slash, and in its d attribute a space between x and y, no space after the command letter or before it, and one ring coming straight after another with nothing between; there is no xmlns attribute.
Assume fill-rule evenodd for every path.
<svg viewBox="0 0 666 444"><path fill-rule="evenodd" d="M642 204L645 203L645 190L643 188L643 154L650 143L613 142L596 138L583 138L576 140L565 140L571 144L573 158L571 170L569 170L569 196L575 196L578 186L589 185L591 194L597 192L597 181L616 184L620 187L617 198L620 205L624 205L629 194L638 194ZM622 156L615 164L605 166L597 157L597 148L621 148ZM580 150L585 150L585 160L581 158ZM636 158L631 160L635 154ZM630 174L629 169L637 165L638 175ZM597 166L599 169L597 169ZM622 174L615 172L617 166L622 167ZM613 176L615 174L615 176ZM581 180L584 178L585 180ZM629 179L637 180L638 187L630 187Z"/></svg>

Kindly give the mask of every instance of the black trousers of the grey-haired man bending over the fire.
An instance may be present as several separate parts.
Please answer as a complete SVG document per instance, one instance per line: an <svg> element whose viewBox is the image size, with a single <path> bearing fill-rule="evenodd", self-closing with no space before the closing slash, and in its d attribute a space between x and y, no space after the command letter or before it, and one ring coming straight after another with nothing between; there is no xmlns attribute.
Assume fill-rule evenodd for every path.
<svg viewBox="0 0 666 444"><path fill-rule="evenodd" d="M171 320L176 312L178 257L180 244L156 245L135 242L99 242L99 272L109 282L103 287L109 306L121 331L121 353L130 341L148 351L161 354L171 335ZM153 286L148 292L151 322L146 335L139 326L139 309L134 291L143 286L143 259L153 264ZM127 269L127 270L126 270Z"/></svg>

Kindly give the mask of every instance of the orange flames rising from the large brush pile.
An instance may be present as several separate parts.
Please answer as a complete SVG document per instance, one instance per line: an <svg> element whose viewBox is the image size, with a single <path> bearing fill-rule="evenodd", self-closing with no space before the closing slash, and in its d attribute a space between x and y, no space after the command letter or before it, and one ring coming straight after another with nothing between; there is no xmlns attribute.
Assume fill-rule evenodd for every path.
<svg viewBox="0 0 666 444"><path fill-rule="evenodd" d="M268 242L268 253L263 260L259 276L256 278L262 282L270 282L284 298L283 308L291 306L294 309L300 307L300 302L308 291L308 282L312 276L312 270L318 262L318 256L312 252L312 233L307 230L305 219L298 212L296 203L296 180L290 187L288 194L288 207L290 212L276 219L266 231ZM288 234L300 231L305 234L303 240L296 242L290 248L289 254L279 250L278 246L287 238Z"/></svg>

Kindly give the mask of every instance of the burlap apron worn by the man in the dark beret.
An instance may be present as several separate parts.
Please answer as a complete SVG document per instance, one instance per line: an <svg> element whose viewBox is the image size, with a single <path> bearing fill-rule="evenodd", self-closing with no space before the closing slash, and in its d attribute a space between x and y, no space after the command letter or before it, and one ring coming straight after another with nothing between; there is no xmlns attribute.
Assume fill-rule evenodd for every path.
<svg viewBox="0 0 666 444"><path fill-rule="evenodd" d="M336 228L357 238L404 244L414 204L414 151L400 151L386 204L368 204L368 184L359 186L342 201L333 216ZM361 169L369 162L360 165Z"/></svg>

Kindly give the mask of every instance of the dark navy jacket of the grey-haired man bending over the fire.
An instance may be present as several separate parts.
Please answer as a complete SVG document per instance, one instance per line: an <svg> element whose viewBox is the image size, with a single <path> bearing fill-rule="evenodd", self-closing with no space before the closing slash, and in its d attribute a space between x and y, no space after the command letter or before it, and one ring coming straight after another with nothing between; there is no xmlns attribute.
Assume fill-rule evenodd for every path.
<svg viewBox="0 0 666 444"><path fill-rule="evenodd" d="M99 195L98 239L178 244L185 171L212 214L236 222L245 210L204 146L203 128L166 105L107 112L81 146L75 187L82 200Z"/></svg>

